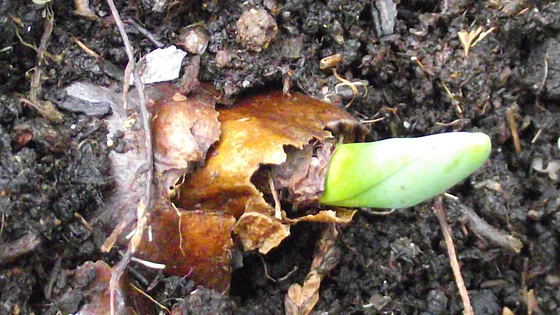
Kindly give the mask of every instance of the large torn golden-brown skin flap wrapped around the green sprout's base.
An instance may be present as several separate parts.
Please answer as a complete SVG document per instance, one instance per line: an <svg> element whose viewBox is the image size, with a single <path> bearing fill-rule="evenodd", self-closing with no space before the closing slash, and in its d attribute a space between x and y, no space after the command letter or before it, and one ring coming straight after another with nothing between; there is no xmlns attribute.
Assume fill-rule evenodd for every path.
<svg viewBox="0 0 560 315"><path fill-rule="evenodd" d="M235 216L238 221L234 233L244 249L259 249L261 253L278 246L289 235L289 225L296 222L279 218L274 206L267 201L270 198L265 198L263 191L266 189L262 187L266 185L259 178L266 179L267 175L256 175L261 166L274 168L289 161L297 170L300 165L288 159L287 148L299 152L310 142L329 143L336 141L339 135L343 135L345 141L363 140L367 132L344 110L299 93L283 95L281 91L273 91L249 96L218 111L222 124L220 141L208 153L206 165L181 186L176 204L185 209L220 209ZM329 158L324 157L326 161ZM309 159L302 158L299 162L309 163ZM322 164L323 168L328 166L328 163ZM309 168L306 172L314 173ZM298 172L286 172L286 169L272 172L280 173L293 177ZM324 176L326 171L318 173ZM315 180L321 183L317 186L319 191L315 192L318 198L325 178L318 176ZM294 181L277 181L279 188L283 188L283 183ZM312 201L307 203L313 204ZM351 215L329 216L329 220L339 223L349 222L348 218ZM322 219L324 216L319 215L316 221Z"/></svg>

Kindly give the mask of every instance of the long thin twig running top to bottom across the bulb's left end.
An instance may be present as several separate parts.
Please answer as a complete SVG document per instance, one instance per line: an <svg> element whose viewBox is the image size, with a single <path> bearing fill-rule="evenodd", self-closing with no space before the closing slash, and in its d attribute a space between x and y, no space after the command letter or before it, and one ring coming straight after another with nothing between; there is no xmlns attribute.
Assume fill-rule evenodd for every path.
<svg viewBox="0 0 560 315"><path fill-rule="evenodd" d="M116 23L117 28L119 30L119 33L121 34L121 37L123 39L126 54L128 56L128 64L126 65L125 77L124 77L124 86L123 86L123 103L125 105L126 105L126 93L128 91L128 87L129 87L128 80L129 80L129 76L130 76L131 72L134 75L134 81L135 81L136 86L137 86L138 102L140 103L139 104L140 117L142 119L142 126L143 126L143 129L144 129L144 148L146 150L145 155L146 155L146 161L147 161L147 164L148 164L148 170L146 172L144 205L145 205L145 209L149 210L149 209L151 209L151 203L152 203L152 181L153 181L153 173L154 173L154 160L153 160L153 149L152 149L152 132L151 132L151 128L150 128L150 113L148 112L148 110L146 108L146 97L144 95L144 86L142 84L142 80L140 79L140 75L138 74L138 71L134 69L134 65L136 63L135 58L134 58L134 52L132 50L132 46L130 45L130 40L128 39L126 31L124 30L123 22L120 18L119 12L118 12L117 7L115 6L115 3L113 2L113 0L107 0L107 4L109 5L109 8L111 8L111 14L113 15L113 18L115 19L115 23ZM145 215L145 212L143 212L142 216L143 215ZM144 227L144 225L140 224L140 222L143 222L143 219L144 218L138 218L137 217L138 224L136 226L137 227L136 233L142 233L141 229ZM122 295L122 292L119 288L119 280L120 280L120 277L121 277L122 273L124 272L126 266L130 262L130 258L132 257L133 251L134 251L134 248L131 248L131 246L129 246L126 253L121 258L121 261L117 264L116 268L111 273L111 280L109 281L109 296L110 296L111 314L112 315L115 314L115 298L116 298L116 295Z"/></svg>

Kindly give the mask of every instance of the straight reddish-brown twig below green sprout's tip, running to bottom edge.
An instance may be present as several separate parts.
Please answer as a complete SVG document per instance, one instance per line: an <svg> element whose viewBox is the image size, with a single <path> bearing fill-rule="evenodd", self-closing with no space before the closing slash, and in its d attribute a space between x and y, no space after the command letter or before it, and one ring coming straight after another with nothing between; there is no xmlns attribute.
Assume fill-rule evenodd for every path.
<svg viewBox="0 0 560 315"><path fill-rule="evenodd" d="M443 232L443 237L445 239L445 245L447 246L447 255L449 255L449 263L451 264L451 269L453 269L453 275L455 276L455 283L459 289L459 295L461 295L461 299L463 300L463 306L465 308L463 313L467 315L474 315L471 300L469 299L469 294L467 293L467 287L465 286L465 281L463 281L463 276L461 275L461 267L459 267L459 261L457 260L455 245L453 243L453 238L451 237L451 228L447 224L445 210L443 209L442 196L437 198L434 203L434 213L438 218L439 225L441 226L441 231Z"/></svg>

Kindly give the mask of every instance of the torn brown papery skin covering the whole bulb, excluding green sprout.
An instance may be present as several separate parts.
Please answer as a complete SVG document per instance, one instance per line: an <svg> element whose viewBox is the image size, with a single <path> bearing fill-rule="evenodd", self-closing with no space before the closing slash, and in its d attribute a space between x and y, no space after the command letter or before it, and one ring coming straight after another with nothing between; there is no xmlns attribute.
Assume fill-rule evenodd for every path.
<svg viewBox="0 0 560 315"><path fill-rule="evenodd" d="M316 203L336 143L341 137L345 142L361 141L367 133L344 110L302 94L285 96L277 91L249 96L216 111L214 97L205 90L193 88L183 96L174 93L171 85L152 89L152 98L161 100L151 106L155 196L152 209L146 211L136 258L165 265L166 274L188 276L199 285L227 293L232 232L245 250L267 253L300 220L348 223L352 219L353 211L320 210ZM113 126L124 126L120 132L126 142L125 149L113 156L120 163L114 166L121 167L115 173L122 178L111 206L123 209L120 223L124 223L116 235L124 244L122 236L134 222L135 208L129 208L137 202L132 197L140 200L142 192L133 188L145 162L138 153L141 132L134 121L126 124L130 117L119 117ZM277 188L272 189L287 190L288 202L305 211L294 218L277 216L272 189L259 182L268 173L276 177ZM175 204L169 199L174 193ZM305 202L298 201L301 195L306 196Z"/></svg>

